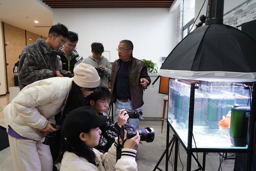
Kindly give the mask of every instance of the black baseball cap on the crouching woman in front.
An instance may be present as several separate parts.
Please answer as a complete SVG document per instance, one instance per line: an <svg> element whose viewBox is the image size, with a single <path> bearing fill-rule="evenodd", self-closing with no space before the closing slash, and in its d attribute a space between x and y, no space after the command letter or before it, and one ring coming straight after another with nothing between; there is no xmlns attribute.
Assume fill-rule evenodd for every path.
<svg viewBox="0 0 256 171"><path fill-rule="evenodd" d="M107 122L107 117L96 115L94 108L83 106L72 110L65 118L61 135L65 138L71 138L90 129L103 126Z"/></svg>

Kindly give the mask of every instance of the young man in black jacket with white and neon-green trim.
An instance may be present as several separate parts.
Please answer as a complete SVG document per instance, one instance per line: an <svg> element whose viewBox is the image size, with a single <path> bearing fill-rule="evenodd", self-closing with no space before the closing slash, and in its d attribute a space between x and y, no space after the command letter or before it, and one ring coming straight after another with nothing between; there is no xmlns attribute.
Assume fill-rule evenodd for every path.
<svg viewBox="0 0 256 171"><path fill-rule="evenodd" d="M60 48L60 50L62 50L64 53L58 56L60 59L60 69L62 70L62 73L64 75L67 73L74 74L74 67L81 63L84 59L76 51L78 34L72 31L69 31L68 33L69 36L67 39L67 43Z"/></svg>

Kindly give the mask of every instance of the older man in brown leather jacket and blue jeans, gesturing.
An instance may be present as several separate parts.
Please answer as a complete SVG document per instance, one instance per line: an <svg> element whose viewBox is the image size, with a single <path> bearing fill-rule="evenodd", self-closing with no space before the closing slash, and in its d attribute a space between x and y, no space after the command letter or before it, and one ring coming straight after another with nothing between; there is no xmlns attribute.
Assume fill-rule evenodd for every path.
<svg viewBox="0 0 256 171"><path fill-rule="evenodd" d="M118 45L118 56L112 66L112 86L110 104L116 103L114 122L120 109L139 110L144 104L143 87L150 84L147 66L142 60L132 56L133 44L122 40ZM139 119L129 119L135 129L139 128Z"/></svg>

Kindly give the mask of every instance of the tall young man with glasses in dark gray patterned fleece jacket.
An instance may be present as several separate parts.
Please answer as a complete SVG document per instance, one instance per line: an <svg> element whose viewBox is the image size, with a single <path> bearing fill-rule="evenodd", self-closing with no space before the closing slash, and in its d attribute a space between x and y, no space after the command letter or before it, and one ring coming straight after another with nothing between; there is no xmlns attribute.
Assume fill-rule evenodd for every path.
<svg viewBox="0 0 256 171"><path fill-rule="evenodd" d="M53 25L47 40L41 38L36 43L29 44L20 55L18 79L20 90L25 86L50 77L63 77L60 74L60 64L57 55L68 37L68 28L63 24Z"/></svg>

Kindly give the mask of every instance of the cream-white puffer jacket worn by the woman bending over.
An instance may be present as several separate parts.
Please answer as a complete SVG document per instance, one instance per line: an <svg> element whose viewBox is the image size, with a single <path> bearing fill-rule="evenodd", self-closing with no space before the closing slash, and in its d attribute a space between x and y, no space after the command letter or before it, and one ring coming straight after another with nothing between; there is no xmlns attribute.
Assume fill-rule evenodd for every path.
<svg viewBox="0 0 256 171"><path fill-rule="evenodd" d="M24 87L4 108L8 124L19 135L40 140L48 120L54 121L67 101L73 78L52 77Z"/></svg>

